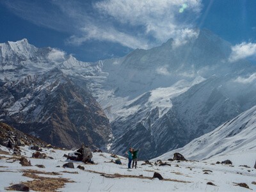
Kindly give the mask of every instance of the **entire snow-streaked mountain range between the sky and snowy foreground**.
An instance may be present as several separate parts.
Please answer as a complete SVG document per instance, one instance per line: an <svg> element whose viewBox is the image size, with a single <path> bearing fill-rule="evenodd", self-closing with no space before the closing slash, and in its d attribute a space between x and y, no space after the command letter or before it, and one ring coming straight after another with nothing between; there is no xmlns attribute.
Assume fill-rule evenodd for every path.
<svg viewBox="0 0 256 192"><path fill-rule="evenodd" d="M230 63L231 45L206 30L180 46L170 39L96 63L27 40L0 46L1 119L48 138L52 130L58 145L80 138L116 154L140 148L139 158L151 159L256 105L255 66L246 60ZM39 93L44 96L36 99ZM44 100L42 110L28 100L35 106Z"/></svg>

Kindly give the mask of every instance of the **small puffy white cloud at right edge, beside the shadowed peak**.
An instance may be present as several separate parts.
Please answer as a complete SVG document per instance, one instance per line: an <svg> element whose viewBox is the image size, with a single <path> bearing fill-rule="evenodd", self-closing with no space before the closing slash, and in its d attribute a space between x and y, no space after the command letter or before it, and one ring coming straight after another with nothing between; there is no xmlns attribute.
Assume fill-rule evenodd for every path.
<svg viewBox="0 0 256 192"><path fill-rule="evenodd" d="M234 62L250 56L255 56L255 54L256 44L243 42L232 47L232 52L228 60Z"/></svg>

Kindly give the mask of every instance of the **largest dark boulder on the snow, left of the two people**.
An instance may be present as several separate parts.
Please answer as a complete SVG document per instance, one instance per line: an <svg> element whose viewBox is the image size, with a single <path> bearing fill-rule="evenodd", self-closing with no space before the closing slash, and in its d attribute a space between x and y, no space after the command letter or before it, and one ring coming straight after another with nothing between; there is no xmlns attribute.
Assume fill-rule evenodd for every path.
<svg viewBox="0 0 256 192"><path fill-rule="evenodd" d="M67 159L72 161L82 161L83 163L93 163L92 161L92 150L90 147L82 145L81 148L68 154Z"/></svg>

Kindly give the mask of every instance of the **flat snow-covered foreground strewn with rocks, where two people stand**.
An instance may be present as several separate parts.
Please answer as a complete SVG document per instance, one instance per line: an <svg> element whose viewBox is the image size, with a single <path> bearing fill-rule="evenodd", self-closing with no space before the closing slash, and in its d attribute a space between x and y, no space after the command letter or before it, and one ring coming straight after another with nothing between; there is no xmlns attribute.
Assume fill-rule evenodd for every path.
<svg viewBox="0 0 256 192"><path fill-rule="evenodd" d="M63 168L70 162L63 157L68 150L42 148L42 152L52 159L32 158L35 150L28 146L20 147L22 156L31 161L31 166L21 166L19 158L9 153L10 149L0 145L0 191L13 184L23 182L30 190L40 186L47 191L251 191L256 190L255 169L241 166L228 166L196 161L167 161L171 166L158 164L142 165L127 169L127 158L118 156L122 164L115 164L116 158L108 153L93 153L95 164L74 162L74 168ZM241 162L243 163L243 162ZM40 164L45 168L35 166ZM250 165L250 164L248 164ZM80 170L77 166L83 166ZM160 173L164 180L153 179L154 172ZM207 174L205 173L207 172ZM49 182L53 180L53 182ZM207 184L212 182L216 186ZM30 183L30 184L29 184ZM238 183L248 184L250 189L237 186ZM29 185L28 185L29 184ZM58 189L54 189L54 186Z"/></svg>

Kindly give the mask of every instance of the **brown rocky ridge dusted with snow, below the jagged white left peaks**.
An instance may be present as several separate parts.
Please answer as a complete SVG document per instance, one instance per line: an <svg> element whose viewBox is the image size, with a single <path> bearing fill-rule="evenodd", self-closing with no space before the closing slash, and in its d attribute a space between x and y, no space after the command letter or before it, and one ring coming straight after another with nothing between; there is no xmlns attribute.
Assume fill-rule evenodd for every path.
<svg viewBox="0 0 256 192"><path fill-rule="evenodd" d="M0 92L6 100L1 118L20 131L65 148L81 143L104 147L111 140L109 120L99 104L60 70L3 84Z"/></svg>

